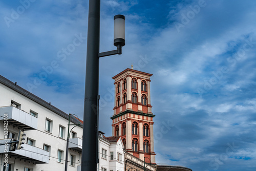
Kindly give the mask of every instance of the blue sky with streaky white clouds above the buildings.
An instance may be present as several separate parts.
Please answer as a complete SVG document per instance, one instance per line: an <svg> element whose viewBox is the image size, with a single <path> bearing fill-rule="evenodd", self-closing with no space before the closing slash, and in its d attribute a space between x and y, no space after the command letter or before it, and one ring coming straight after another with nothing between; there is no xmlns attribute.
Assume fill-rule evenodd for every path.
<svg viewBox="0 0 256 171"><path fill-rule="evenodd" d="M154 74L157 163L255 170L255 8L249 0L102 0L100 51L115 49L116 14L125 15L126 45L100 59L100 130L112 134L111 78L133 62ZM4 0L0 16L0 74L82 118L88 1Z"/></svg>

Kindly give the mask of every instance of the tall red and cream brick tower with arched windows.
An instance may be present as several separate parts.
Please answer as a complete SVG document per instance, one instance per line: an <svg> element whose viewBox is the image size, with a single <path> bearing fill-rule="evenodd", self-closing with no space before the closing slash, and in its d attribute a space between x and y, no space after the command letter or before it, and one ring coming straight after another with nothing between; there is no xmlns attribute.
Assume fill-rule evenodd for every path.
<svg viewBox="0 0 256 171"><path fill-rule="evenodd" d="M115 107L112 134L121 136L127 152L155 164L150 77L152 74L126 69L113 77Z"/></svg>

